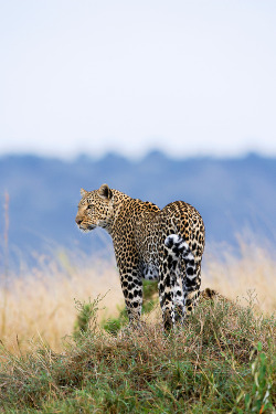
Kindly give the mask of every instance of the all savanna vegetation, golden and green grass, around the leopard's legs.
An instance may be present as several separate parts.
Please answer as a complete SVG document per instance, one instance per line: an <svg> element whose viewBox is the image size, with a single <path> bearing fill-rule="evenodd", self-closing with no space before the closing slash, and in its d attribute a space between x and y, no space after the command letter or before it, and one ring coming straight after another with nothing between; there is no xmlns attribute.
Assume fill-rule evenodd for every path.
<svg viewBox="0 0 276 414"><path fill-rule="evenodd" d="M203 266L203 287L221 296L170 335L155 284L145 285L142 327L128 327L112 261L60 252L3 273L0 410L274 413L276 263L242 242L240 256L225 252L206 251Z"/></svg>

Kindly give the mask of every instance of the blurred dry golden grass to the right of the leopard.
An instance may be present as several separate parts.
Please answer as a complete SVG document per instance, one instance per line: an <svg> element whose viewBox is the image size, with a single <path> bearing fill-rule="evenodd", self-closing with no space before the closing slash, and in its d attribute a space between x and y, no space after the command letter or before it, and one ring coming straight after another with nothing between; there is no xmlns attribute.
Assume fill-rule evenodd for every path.
<svg viewBox="0 0 276 414"><path fill-rule="evenodd" d="M212 250L213 252L213 250ZM254 300L256 310L273 314L276 310L276 258L272 247L258 247L240 240L240 257L226 248L224 257L206 251L202 287L212 287L241 305Z"/></svg>

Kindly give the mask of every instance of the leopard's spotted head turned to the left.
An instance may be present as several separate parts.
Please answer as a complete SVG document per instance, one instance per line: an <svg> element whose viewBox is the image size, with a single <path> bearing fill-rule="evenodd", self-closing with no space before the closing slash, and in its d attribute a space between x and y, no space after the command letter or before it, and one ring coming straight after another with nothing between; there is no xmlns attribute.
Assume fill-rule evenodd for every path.
<svg viewBox="0 0 276 414"><path fill-rule="evenodd" d="M98 190L81 190L82 200L78 203L76 224L84 232L97 226L110 232L113 223L113 191L107 184L100 185Z"/></svg>

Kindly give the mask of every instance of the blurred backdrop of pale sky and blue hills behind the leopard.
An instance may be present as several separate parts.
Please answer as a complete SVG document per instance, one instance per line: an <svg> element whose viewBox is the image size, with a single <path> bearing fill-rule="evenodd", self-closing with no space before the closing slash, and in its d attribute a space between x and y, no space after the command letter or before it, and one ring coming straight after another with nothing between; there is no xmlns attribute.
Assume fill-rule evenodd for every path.
<svg viewBox="0 0 276 414"><path fill-rule="evenodd" d="M104 182L193 204L216 252L275 246L275 17L269 0L1 1L0 266L109 254L74 222Z"/></svg>

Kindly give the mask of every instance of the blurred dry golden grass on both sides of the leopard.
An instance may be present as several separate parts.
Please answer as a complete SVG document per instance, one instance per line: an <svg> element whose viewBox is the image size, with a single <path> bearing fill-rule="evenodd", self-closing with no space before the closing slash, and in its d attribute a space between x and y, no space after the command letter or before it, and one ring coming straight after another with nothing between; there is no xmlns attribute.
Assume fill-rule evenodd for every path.
<svg viewBox="0 0 276 414"><path fill-rule="evenodd" d="M105 295L100 306L106 309L99 311L99 318L118 314L117 306L124 299L115 263L103 259L92 263L85 257L85 265L76 265L68 257L62 253L47 265L12 277L9 289L1 287L0 338L12 352L25 350L30 340L41 338L60 351L62 338L74 328L74 299L87 301L89 297ZM227 254L219 261L206 252L203 288L212 287L227 298L238 296L244 301L248 290L254 291L259 309L270 314L276 309L275 268L276 262L266 250L243 243L240 258Z"/></svg>

